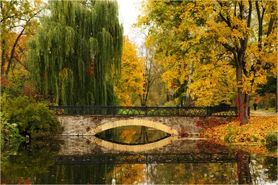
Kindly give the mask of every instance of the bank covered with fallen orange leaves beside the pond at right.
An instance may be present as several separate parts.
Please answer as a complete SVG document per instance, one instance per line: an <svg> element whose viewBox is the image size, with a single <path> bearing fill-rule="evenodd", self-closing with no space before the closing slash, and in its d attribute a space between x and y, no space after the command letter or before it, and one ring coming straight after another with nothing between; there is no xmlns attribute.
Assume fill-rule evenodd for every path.
<svg viewBox="0 0 278 185"><path fill-rule="evenodd" d="M277 116L250 118L248 124L240 126L240 122L205 129L200 136L234 149L250 153L277 156L277 152L268 152L265 147L265 134L277 131Z"/></svg>

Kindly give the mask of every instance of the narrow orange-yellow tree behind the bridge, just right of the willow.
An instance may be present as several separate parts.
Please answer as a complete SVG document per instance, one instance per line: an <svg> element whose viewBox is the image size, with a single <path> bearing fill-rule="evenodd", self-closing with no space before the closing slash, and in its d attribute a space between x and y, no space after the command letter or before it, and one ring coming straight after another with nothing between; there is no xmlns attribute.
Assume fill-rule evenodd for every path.
<svg viewBox="0 0 278 185"><path fill-rule="evenodd" d="M145 66L142 58L138 57L136 49L136 45L125 36L122 51L122 73L119 81L115 83L115 93L120 105L123 106L131 106L132 102L143 93Z"/></svg>

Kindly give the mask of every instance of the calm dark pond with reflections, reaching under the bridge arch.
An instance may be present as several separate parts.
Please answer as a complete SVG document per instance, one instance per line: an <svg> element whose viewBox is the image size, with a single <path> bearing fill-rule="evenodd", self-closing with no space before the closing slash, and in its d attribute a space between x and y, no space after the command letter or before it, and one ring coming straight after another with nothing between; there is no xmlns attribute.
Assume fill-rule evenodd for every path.
<svg viewBox="0 0 278 185"><path fill-rule="evenodd" d="M277 158L148 127L122 127L97 137L32 140L9 152L2 148L1 184L26 183L277 184Z"/></svg>

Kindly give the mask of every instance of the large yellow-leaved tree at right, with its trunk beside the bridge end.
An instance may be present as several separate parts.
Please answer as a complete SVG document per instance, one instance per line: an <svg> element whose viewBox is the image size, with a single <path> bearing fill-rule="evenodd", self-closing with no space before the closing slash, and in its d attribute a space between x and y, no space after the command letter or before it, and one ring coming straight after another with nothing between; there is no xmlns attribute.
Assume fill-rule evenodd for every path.
<svg viewBox="0 0 278 185"><path fill-rule="evenodd" d="M220 67L227 66L216 77L227 77L228 66L232 66L239 118L243 124L247 123L247 105L254 86L266 82L267 72L276 75L277 2L147 1L142 10L145 15L139 17L138 25L148 27L151 38L163 43L157 51L164 52L168 58L190 58L197 66L208 65L218 72ZM181 72L181 66L188 66L188 60L186 63L172 61L177 61L177 65L171 62L168 66L176 67L178 74L190 71ZM196 75L208 75L208 70L199 72L195 70ZM229 85L230 77L221 83ZM204 83L206 92L215 88L211 85L211 81Z"/></svg>

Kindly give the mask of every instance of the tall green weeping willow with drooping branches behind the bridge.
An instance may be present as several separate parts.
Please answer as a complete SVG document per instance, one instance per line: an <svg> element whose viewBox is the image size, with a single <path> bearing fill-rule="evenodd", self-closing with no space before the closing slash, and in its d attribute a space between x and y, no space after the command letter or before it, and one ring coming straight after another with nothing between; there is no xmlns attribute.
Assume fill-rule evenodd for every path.
<svg viewBox="0 0 278 185"><path fill-rule="evenodd" d="M113 105L120 73L122 25L115 1L49 1L28 65L42 95L59 105Z"/></svg>

